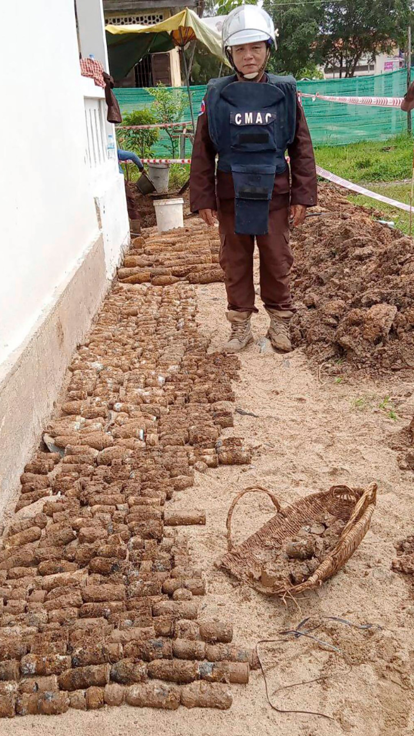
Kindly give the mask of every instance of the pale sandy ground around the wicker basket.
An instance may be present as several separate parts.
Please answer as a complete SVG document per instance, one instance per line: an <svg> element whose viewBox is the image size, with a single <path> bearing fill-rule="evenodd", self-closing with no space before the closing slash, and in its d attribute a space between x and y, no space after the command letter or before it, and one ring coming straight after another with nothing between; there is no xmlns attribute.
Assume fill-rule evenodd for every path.
<svg viewBox="0 0 414 736"><path fill-rule="evenodd" d="M211 350L228 332L222 284L198 287L200 329L211 336ZM253 320L256 339L264 336L264 310ZM242 355L240 380L235 383L236 407L257 414L235 414L234 428L224 436L243 436L255 448L245 467L220 467L196 473L194 487L176 493L183 507L204 508L206 527L188 531L194 562L203 568L207 595L203 615L228 618L234 643L255 645L277 638L309 615L343 617L374 623L382 631L337 626L343 657L321 650L310 641L289 641L260 648L269 693L278 707L316 710L315 715L282 715L267 703L260 671L246 686L231 686L230 711L163 712L129 707L97 712L70 710L57 717L25 717L0 722L0 736L31 734L124 736L405 736L414 733L410 668L414 664L414 601L410 587L390 570L394 542L413 533L414 473L399 470L390 435L409 423L414 409L414 383L392 377L387 383L320 383L296 350L277 355L260 352L254 343ZM379 403L393 397L398 419L390 420ZM362 402L359 401L362 399ZM362 406L359 406L361 405ZM225 518L239 490L253 484L271 489L282 505L332 484L362 486L376 481L379 496L371 529L357 552L331 581L299 601L264 598L214 567L225 552ZM248 495L234 514L236 541L242 541L273 513L266 496ZM323 637L322 637L323 638ZM351 665L349 662L351 660ZM323 679L312 684L273 691L281 685Z"/></svg>

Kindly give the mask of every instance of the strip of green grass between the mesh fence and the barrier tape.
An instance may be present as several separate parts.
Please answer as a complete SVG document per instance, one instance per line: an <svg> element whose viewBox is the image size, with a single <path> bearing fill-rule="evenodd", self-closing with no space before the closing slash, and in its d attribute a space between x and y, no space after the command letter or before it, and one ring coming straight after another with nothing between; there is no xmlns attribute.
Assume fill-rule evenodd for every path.
<svg viewBox="0 0 414 736"><path fill-rule="evenodd" d="M387 141L317 146L315 157L323 169L354 183L411 179L413 138L401 134Z"/></svg>

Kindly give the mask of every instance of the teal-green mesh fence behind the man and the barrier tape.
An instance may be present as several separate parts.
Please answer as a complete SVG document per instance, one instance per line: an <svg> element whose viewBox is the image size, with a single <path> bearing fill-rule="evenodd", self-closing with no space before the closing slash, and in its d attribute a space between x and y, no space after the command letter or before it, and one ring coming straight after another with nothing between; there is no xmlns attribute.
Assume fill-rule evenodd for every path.
<svg viewBox="0 0 414 736"><path fill-rule="evenodd" d="M413 69L412 69L413 75ZM354 77L352 79L317 79L312 82L298 82L298 90L304 93L320 93L338 96L382 96L402 97L407 88L407 71L387 72L372 77ZM180 88L184 99L188 101L186 88ZM205 86L191 88L194 115L200 110L200 104L206 91ZM150 107L152 97L147 91L139 88L116 88L114 90L122 114L132 110ZM304 98L303 106L306 120L315 146L345 145L356 141L383 141L392 135L407 130L407 113L397 108L373 107L363 105L344 105L340 102L324 102L323 100ZM183 120L190 120L189 105ZM163 132L158 144L154 146L154 156L166 157L170 154ZM186 155L191 155L186 146Z"/></svg>

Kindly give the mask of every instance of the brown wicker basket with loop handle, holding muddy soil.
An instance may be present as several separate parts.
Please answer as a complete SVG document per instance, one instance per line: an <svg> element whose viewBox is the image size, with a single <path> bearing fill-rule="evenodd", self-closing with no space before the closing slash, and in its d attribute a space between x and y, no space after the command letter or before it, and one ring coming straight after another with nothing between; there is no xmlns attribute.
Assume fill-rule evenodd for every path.
<svg viewBox="0 0 414 736"><path fill-rule="evenodd" d="M252 486L240 492L234 498L227 516L227 544L228 553L217 563L218 567L227 570L239 580L250 584L265 595L296 595L304 590L318 587L324 580L340 570L345 562L354 554L359 543L365 537L371 522L371 516L376 504L375 483L366 489L348 488L348 486L332 486L329 491L313 493L301 500L281 509L277 498L261 486ZM231 542L231 517L236 504L245 493L267 493L276 507L277 514L262 526L256 534L246 539L241 545L233 547ZM337 519L345 521L345 527L337 545L317 567L306 581L301 584L287 584L282 587L264 587L253 576L257 567L255 553L274 545L279 548L285 539L292 539L305 525L320 519L323 513L328 512Z"/></svg>

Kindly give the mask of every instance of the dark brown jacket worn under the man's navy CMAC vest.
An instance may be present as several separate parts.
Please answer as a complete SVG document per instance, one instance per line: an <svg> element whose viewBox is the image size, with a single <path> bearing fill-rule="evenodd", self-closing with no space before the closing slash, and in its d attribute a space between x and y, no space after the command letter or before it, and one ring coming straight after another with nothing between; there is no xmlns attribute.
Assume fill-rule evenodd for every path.
<svg viewBox="0 0 414 736"><path fill-rule="evenodd" d="M240 82L252 84L256 82ZM287 168L275 177L270 209L281 209L292 205L312 207L317 201L315 156L312 140L306 124L304 110L296 105L295 139L288 148L290 156L290 176ZM198 210L228 210L225 200L234 199L234 186L231 173L215 172L216 151L208 132L207 110L198 117L197 131L192 150L190 171L190 208Z"/></svg>

